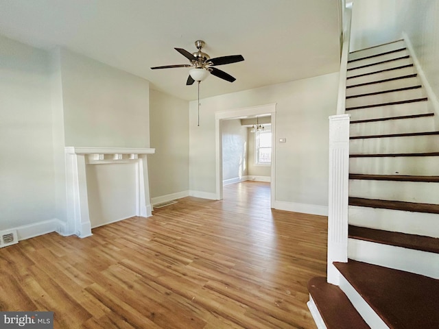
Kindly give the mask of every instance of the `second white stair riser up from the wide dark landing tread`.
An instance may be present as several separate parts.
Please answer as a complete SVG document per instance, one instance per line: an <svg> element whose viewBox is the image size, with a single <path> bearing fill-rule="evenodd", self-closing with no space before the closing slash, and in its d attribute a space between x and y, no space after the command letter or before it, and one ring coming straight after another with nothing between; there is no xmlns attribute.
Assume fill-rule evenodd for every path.
<svg viewBox="0 0 439 329"><path fill-rule="evenodd" d="M349 224L439 238L438 214L349 206Z"/></svg>

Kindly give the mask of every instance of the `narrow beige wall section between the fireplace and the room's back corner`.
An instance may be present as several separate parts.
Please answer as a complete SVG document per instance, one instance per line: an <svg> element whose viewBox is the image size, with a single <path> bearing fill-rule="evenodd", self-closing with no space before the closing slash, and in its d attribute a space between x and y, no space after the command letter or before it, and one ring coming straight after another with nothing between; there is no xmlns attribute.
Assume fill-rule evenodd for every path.
<svg viewBox="0 0 439 329"><path fill-rule="evenodd" d="M160 197L165 199L158 202L189 194L188 108L188 101L150 90L151 145L156 149L148 156L153 204Z"/></svg>

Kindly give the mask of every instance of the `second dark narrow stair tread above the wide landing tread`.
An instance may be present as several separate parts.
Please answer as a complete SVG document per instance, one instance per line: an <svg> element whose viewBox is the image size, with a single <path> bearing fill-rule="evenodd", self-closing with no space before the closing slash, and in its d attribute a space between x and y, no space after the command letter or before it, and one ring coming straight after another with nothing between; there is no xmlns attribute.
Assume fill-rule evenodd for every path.
<svg viewBox="0 0 439 329"><path fill-rule="evenodd" d="M392 210L403 210L411 212L428 212L439 214L439 204L418 204L416 202L390 201L379 199L366 199L362 197L349 197L350 206L383 208Z"/></svg>

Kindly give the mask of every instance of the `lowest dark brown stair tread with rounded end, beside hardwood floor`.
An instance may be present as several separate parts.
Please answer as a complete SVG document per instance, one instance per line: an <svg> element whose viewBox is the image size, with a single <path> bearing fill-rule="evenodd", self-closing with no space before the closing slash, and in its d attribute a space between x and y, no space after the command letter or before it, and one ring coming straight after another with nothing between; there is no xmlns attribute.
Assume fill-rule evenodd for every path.
<svg viewBox="0 0 439 329"><path fill-rule="evenodd" d="M311 278L308 291L328 329L370 328L342 289L328 283L326 278Z"/></svg>

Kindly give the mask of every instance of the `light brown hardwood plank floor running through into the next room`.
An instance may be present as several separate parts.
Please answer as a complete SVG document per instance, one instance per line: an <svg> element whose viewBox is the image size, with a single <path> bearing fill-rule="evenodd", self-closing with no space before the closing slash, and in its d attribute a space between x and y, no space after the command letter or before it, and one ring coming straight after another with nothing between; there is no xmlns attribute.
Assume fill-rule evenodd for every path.
<svg viewBox="0 0 439 329"><path fill-rule="evenodd" d="M327 217L270 209L270 184L224 186L93 230L0 249L0 310L52 310L54 328L316 328Z"/></svg>

